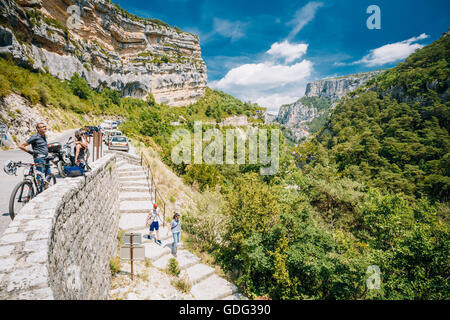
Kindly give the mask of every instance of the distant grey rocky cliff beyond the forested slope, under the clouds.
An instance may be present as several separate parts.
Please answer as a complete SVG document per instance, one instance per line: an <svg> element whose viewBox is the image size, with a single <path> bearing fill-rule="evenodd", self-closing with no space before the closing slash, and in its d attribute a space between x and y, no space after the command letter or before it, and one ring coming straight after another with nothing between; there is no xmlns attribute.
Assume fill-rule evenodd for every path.
<svg viewBox="0 0 450 320"><path fill-rule="evenodd" d="M328 119L329 112L347 93L358 89L383 70L352 74L308 83L305 96L293 104L281 106L274 122L285 135L300 142L315 133Z"/></svg>

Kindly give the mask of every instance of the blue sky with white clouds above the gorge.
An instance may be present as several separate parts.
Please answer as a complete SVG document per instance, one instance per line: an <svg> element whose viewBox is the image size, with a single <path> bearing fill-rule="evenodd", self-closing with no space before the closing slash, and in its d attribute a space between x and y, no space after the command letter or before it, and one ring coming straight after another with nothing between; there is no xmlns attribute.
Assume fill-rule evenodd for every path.
<svg viewBox="0 0 450 320"><path fill-rule="evenodd" d="M449 0L113 2L197 34L208 86L272 114L308 82L395 67L450 27Z"/></svg>

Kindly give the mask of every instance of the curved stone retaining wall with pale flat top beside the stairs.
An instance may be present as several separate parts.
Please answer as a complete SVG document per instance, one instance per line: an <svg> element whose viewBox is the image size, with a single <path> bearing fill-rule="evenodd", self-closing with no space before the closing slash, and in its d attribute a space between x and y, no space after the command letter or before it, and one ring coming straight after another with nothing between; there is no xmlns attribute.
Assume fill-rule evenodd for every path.
<svg viewBox="0 0 450 320"><path fill-rule="evenodd" d="M0 238L0 300L106 299L117 253L116 155L22 208Z"/></svg>

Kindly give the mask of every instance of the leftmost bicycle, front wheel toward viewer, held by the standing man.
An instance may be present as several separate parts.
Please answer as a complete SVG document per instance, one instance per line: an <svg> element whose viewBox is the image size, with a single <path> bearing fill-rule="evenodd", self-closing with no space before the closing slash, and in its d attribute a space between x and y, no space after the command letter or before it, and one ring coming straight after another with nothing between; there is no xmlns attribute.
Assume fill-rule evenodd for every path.
<svg viewBox="0 0 450 320"><path fill-rule="evenodd" d="M9 175L17 175L17 168L29 168L25 170L24 178L19 182L11 193L9 199L9 216L14 220L15 215L39 193L48 189L50 186L56 184L56 177L50 173L47 177L43 172L37 170L37 167L49 166L49 160L46 159L45 164L39 163L24 163L22 161L8 161L3 166L4 171Z"/></svg>

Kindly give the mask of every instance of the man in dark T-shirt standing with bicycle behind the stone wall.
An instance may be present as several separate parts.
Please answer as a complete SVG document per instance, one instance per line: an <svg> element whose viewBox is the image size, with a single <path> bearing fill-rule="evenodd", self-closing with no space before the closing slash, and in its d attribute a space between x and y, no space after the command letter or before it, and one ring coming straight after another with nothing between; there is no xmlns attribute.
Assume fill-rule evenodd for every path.
<svg viewBox="0 0 450 320"><path fill-rule="evenodd" d="M37 170L44 173L48 178L50 175L50 165L46 164L45 158L48 156L48 144L45 133L47 132L47 126L40 122L36 125L37 132L33 134L27 141L23 142L19 149L31 154L33 156L34 163L42 164L43 166L36 166ZM27 150L27 147L31 145L32 150ZM45 169L43 169L44 167ZM39 176L38 176L39 179ZM48 183L48 181L46 181Z"/></svg>

